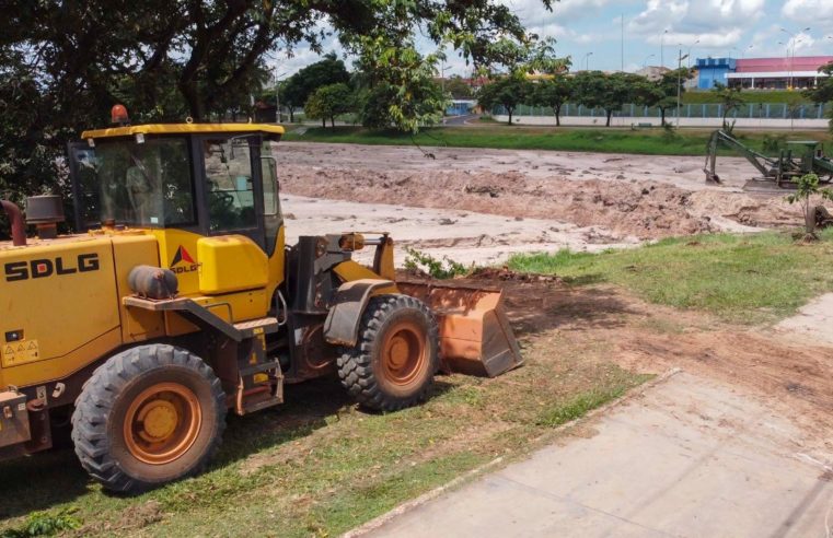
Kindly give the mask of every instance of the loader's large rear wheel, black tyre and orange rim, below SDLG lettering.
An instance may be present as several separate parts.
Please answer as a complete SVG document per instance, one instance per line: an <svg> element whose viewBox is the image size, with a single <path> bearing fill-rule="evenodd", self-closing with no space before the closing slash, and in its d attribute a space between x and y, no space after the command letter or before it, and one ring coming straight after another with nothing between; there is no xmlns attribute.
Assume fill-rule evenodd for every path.
<svg viewBox="0 0 833 538"><path fill-rule="evenodd" d="M222 442L225 394L189 351L140 346L112 356L72 414L81 466L105 489L143 491L200 472Z"/></svg>

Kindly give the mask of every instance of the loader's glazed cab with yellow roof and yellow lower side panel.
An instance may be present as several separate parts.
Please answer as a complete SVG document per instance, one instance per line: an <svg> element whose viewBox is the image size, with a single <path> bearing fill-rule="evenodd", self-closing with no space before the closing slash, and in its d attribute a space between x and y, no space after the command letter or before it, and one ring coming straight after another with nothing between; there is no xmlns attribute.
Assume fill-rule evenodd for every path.
<svg viewBox="0 0 833 538"><path fill-rule="evenodd" d="M284 234L271 147L282 133L256 124L85 131L69 148L77 227L154 235L183 294L274 288Z"/></svg>

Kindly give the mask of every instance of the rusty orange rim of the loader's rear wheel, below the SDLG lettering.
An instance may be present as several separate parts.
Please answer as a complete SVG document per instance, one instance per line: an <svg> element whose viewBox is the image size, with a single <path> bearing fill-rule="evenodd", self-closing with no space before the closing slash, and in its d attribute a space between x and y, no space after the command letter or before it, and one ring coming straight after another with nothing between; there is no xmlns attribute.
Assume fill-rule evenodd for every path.
<svg viewBox="0 0 833 538"><path fill-rule="evenodd" d="M140 461L170 464L194 445L201 425L203 412L194 391L178 383L159 383L130 404L125 443Z"/></svg>

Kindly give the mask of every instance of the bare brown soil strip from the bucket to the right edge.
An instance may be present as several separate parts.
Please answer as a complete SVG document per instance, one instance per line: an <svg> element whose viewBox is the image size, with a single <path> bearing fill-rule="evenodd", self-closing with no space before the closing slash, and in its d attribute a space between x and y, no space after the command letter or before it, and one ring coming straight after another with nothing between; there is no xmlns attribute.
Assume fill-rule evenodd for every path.
<svg viewBox="0 0 833 538"><path fill-rule="evenodd" d="M833 348L766 328L732 327L710 316L649 305L612 286L495 281L519 338L565 351L605 349L605 360L637 372L680 367L725 382L792 419L808 451L833 449ZM547 338L555 334L557 338ZM539 338L541 335L544 338ZM537 351L541 351L540 349ZM587 353L587 356L599 353Z"/></svg>

